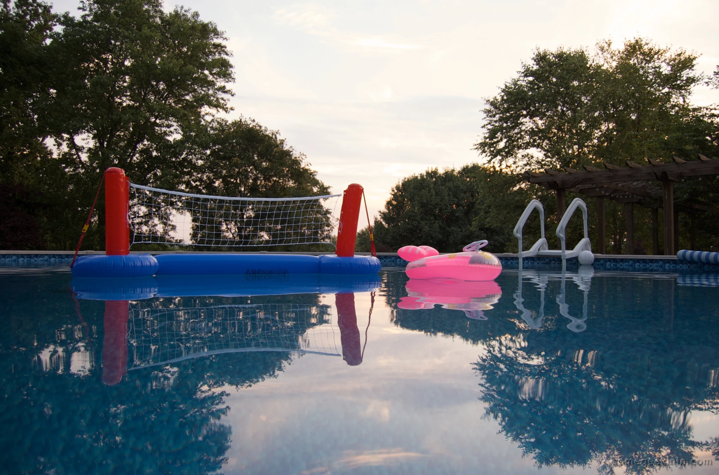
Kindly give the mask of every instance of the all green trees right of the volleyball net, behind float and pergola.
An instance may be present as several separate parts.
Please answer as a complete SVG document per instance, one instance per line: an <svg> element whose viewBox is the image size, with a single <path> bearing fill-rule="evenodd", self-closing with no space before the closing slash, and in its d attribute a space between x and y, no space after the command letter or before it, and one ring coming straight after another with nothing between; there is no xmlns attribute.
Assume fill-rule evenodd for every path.
<svg viewBox="0 0 719 475"><path fill-rule="evenodd" d="M697 57L641 37L618 47L605 40L593 52L535 50L517 76L485 101L485 126L474 146L483 164L431 169L395 185L375 218L377 248L426 244L452 252L488 239L493 252L516 252L512 230L532 198L544 204L551 244L557 239L554 192L526 183L523 172L719 157L718 107L690 101L700 86L719 88L719 67L704 75L697 71ZM568 200L577 196L582 197L567 193ZM585 201L590 239L596 241L596 200ZM718 177L682 180L675 185L674 202L679 246L719 250ZM623 205L607 201L608 252L651 253L650 209L635 208L636 249L626 249L624 213ZM532 220L536 216L525 228L525 243L539 237ZM579 219L573 221L567 233L576 242L581 227ZM362 250L369 249L367 229L360 231L358 242Z"/></svg>

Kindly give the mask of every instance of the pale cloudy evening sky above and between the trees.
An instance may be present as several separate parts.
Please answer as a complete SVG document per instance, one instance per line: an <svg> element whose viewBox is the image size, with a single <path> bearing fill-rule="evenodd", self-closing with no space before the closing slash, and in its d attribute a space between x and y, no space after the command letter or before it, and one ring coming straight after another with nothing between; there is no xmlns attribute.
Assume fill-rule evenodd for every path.
<svg viewBox="0 0 719 475"><path fill-rule="evenodd" d="M75 11L79 2L54 4ZM182 4L226 32L236 76L229 118L280 131L333 193L363 185L372 215L403 177L485 161L472 149L484 100L537 47L592 50L642 36L699 53L702 72L719 65L718 1ZM719 91L698 88L693 102L719 103Z"/></svg>

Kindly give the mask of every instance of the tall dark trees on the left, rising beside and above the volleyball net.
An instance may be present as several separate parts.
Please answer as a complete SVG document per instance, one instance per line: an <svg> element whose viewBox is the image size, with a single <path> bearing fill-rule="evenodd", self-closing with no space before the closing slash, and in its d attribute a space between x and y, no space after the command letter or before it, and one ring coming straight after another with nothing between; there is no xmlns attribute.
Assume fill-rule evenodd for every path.
<svg viewBox="0 0 719 475"><path fill-rule="evenodd" d="M226 37L159 0L41 0L0 8L0 249L74 249L106 168L189 193L326 194L306 157L229 121ZM83 246L104 249L101 193Z"/></svg>

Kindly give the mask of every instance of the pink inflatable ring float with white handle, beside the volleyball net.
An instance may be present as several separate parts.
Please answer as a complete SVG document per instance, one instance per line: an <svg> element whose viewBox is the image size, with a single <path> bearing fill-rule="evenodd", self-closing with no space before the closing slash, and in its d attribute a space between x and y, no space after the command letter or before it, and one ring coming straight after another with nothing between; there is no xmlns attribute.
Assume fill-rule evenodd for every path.
<svg viewBox="0 0 719 475"><path fill-rule="evenodd" d="M430 246L404 246L397 254L409 261L405 272L411 279L495 280L502 263L494 254L480 251L486 245L487 241L475 241L462 252L441 255Z"/></svg>

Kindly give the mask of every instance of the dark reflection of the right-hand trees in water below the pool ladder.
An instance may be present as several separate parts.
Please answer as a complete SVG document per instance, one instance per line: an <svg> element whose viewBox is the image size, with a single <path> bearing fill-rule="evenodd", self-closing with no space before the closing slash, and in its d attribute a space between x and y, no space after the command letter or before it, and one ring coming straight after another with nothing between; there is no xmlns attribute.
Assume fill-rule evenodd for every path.
<svg viewBox="0 0 719 475"><path fill-rule="evenodd" d="M674 277L581 271L523 271L514 300L500 300L482 322L442 309L405 310L399 273L388 273L384 292L396 305L395 325L485 348L474 366L486 415L538 466L613 473L637 458L676 464L697 451L719 457L719 441L694 441L687 418L692 410L719 412L715 305L697 301L692 287L674 287ZM505 272L498 283L516 285L516 278ZM523 289L523 281L536 290ZM545 295L557 307L547 308ZM580 306L582 318L572 317L569 308ZM627 466L632 473L654 469Z"/></svg>

